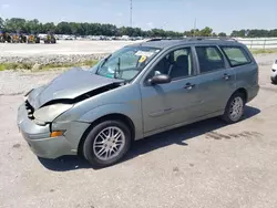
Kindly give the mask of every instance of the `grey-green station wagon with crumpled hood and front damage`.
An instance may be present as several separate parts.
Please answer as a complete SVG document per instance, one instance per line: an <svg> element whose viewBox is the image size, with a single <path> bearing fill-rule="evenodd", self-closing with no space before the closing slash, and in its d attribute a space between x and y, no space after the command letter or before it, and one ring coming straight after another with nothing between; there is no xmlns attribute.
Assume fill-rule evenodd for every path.
<svg viewBox="0 0 277 208"><path fill-rule="evenodd" d="M132 141L215 116L236 123L258 91L258 65L235 40L150 40L31 90L18 126L39 157L105 167Z"/></svg>

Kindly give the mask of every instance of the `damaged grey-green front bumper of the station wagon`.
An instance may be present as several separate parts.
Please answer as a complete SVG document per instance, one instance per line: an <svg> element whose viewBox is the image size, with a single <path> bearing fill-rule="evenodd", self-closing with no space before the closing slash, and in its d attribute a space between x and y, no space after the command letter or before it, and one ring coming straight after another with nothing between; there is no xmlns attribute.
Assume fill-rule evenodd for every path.
<svg viewBox="0 0 277 208"><path fill-rule="evenodd" d="M31 150L42 158L58 158L63 155L76 155L76 148L64 135L50 137L50 125L40 126L30 117L25 104L18 108L18 127Z"/></svg>

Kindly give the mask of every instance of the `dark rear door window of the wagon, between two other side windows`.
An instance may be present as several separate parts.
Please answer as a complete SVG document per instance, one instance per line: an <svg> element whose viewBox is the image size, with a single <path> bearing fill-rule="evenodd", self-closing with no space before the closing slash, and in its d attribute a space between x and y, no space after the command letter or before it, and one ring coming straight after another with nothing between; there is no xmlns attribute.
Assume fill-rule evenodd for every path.
<svg viewBox="0 0 277 208"><path fill-rule="evenodd" d="M225 69L223 54L216 46L196 46L201 73Z"/></svg>

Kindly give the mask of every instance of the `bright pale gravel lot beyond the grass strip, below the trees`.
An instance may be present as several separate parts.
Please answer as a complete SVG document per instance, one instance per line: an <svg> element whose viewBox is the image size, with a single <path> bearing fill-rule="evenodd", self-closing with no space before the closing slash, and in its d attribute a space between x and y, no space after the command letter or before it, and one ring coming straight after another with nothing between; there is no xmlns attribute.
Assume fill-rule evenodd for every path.
<svg viewBox="0 0 277 208"><path fill-rule="evenodd" d="M59 41L57 44L0 44L0 63L76 63L99 60L134 41Z"/></svg>

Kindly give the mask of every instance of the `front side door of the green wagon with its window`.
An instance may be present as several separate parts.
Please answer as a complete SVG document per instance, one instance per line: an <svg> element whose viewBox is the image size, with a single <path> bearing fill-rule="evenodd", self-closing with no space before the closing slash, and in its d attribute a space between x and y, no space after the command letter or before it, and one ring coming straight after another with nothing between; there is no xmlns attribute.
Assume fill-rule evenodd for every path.
<svg viewBox="0 0 277 208"><path fill-rule="evenodd" d="M168 52L150 72L146 80L155 74L168 74L172 82L141 85L145 134L192 118L199 102L194 69L191 48L183 48Z"/></svg>

